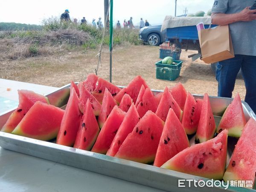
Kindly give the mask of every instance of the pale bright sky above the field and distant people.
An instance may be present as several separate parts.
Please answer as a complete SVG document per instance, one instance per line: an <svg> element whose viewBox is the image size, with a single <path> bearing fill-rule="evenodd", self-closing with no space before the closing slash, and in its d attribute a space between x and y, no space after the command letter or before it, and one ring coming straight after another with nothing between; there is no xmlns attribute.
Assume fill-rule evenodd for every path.
<svg viewBox="0 0 256 192"><path fill-rule="evenodd" d="M177 15L197 11L207 12L212 8L214 0L177 0ZM70 17L81 20L85 17L91 23L93 18L104 18L104 0L2 0L0 22L26 24L42 24L43 19L60 17L65 9L69 9ZM113 0L113 21L129 20L139 23L140 18L150 24L161 24L166 15L175 15L175 0Z"/></svg>

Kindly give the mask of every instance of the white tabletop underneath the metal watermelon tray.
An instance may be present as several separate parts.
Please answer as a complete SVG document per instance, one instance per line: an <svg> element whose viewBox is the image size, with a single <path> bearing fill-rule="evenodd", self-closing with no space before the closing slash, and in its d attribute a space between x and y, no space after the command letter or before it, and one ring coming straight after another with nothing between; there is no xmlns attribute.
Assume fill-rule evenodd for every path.
<svg viewBox="0 0 256 192"><path fill-rule="evenodd" d="M6 88L11 88L7 91ZM56 90L37 84L0 79L0 96L18 101L17 89L47 94ZM125 174L125 173L124 173ZM125 180L20 154L0 147L0 192L160 192Z"/></svg>

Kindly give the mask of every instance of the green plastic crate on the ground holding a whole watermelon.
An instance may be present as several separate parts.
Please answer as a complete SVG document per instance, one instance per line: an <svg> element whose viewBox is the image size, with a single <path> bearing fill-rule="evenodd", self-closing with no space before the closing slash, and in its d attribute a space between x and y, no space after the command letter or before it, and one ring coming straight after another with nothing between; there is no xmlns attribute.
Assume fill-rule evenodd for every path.
<svg viewBox="0 0 256 192"><path fill-rule="evenodd" d="M174 60L175 64L162 64L162 60L156 63L156 78L174 81L180 76L182 61Z"/></svg>

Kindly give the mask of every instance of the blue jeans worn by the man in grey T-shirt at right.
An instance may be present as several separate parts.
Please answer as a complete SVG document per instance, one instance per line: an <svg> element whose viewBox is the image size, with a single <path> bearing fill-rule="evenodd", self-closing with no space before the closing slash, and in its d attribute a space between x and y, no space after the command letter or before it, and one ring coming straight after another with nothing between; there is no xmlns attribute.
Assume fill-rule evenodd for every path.
<svg viewBox="0 0 256 192"><path fill-rule="evenodd" d="M232 97L236 75L241 68L246 95L244 101L256 113L256 56L235 55L216 65L216 80L218 81L218 96Z"/></svg>

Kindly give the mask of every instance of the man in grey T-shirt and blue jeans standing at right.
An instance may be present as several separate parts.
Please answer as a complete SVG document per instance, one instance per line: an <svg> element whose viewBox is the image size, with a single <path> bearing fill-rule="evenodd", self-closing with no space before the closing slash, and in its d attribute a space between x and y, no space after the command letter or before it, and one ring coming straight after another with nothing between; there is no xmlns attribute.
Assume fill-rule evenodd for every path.
<svg viewBox="0 0 256 192"><path fill-rule="evenodd" d="M255 0L215 0L212 24L229 25L234 58L216 65L218 96L232 97L236 75L240 68L244 78L244 101L256 113L256 10L250 10Z"/></svg>

